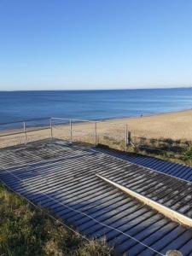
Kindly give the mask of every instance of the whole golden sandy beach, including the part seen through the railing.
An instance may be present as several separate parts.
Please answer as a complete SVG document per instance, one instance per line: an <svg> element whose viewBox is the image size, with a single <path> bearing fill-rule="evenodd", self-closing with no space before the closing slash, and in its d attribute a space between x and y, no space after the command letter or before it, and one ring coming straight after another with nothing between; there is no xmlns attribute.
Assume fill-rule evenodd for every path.
<svg viewBox="0 0 192 256"><path fill-rule="evenodd" d="M144 137L148 139L172 139L174 141L192 142L192 110L136 118L110 119L98 122L96 125L95 122L73 123L73 141L106 143L111 140L114 143L114 140L116 140L125 142L126 125L128 131L131 131L132 138ZM95 131L97 137L95 136ZM52 134L55 138L70 140L70 125L62 125L53 121ZM27 131L26 137L27 142L32 142L51 137L51 132L49 127L43 131ZM25 143L24 133L0 137L1 147L20 143ZM125 147L125 145L122 145L122 147Z"/></svg>

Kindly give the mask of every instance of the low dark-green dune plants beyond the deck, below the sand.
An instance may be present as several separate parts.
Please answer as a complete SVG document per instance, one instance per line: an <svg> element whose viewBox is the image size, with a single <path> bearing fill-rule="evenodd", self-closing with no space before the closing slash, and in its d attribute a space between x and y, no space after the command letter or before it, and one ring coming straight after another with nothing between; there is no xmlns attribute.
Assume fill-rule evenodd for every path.
<svg viewBox="0 0 192 256"><path fill-rule="evenodd" d="M100 148L112 148L118 151L125 151L125 141L118 141L115 138L104 137ZM142 154L192 166L192 145L190 142L172 139L148 139L143 137L133 137L132 143L135 148L129 145L128 154Z"/></svg>

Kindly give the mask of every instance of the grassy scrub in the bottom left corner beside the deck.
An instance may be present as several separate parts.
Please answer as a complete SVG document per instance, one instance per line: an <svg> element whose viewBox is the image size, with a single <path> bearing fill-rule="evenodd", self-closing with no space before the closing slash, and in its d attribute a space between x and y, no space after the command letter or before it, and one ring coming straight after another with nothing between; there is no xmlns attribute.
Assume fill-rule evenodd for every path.
<svg viewBox="0 0 192 256"><path fill-rule="evenodd" d="M107 256L105 241L85 241L0 184L1 256Z"/></svg>

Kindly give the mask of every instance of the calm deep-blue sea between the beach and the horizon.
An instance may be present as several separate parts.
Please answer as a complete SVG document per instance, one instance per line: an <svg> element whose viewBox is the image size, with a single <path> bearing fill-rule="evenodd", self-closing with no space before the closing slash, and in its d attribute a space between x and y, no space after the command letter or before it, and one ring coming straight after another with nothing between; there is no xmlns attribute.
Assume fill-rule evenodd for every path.
<svg viewBox="0 0 192 256"><path fill-rule="evenodd" d="M0 92L0 123L44 117L112 119L192 108L192 88Z"/></svg>

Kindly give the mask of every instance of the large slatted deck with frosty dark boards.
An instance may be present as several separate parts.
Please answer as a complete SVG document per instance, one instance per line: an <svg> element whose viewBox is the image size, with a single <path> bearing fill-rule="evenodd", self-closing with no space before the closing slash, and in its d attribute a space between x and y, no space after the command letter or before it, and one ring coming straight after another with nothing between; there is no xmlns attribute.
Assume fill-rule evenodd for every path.
<svg viewBox="0 0 192 256"><path fill-rule="evenodd" d="M168 179L161 173L91 148L68 147L56 142L3 149L0 151L0 165L0 178L11 189L42 207L48 207L87 236L105 236L108 244L115 246L121 255L158 254L148 247L160 253L175 248L183 255L192 255L191 229L96 177L96 173L113 177L155 196L157 194L154 195L153 189L148 187L149 181L159 188L160 195L155 180L160 178L163 186L168 184ZM172 186L175 180L169 179ZM180 184L181 181L177 182ZM163 198L166 201L166 197Z"/></svg>

